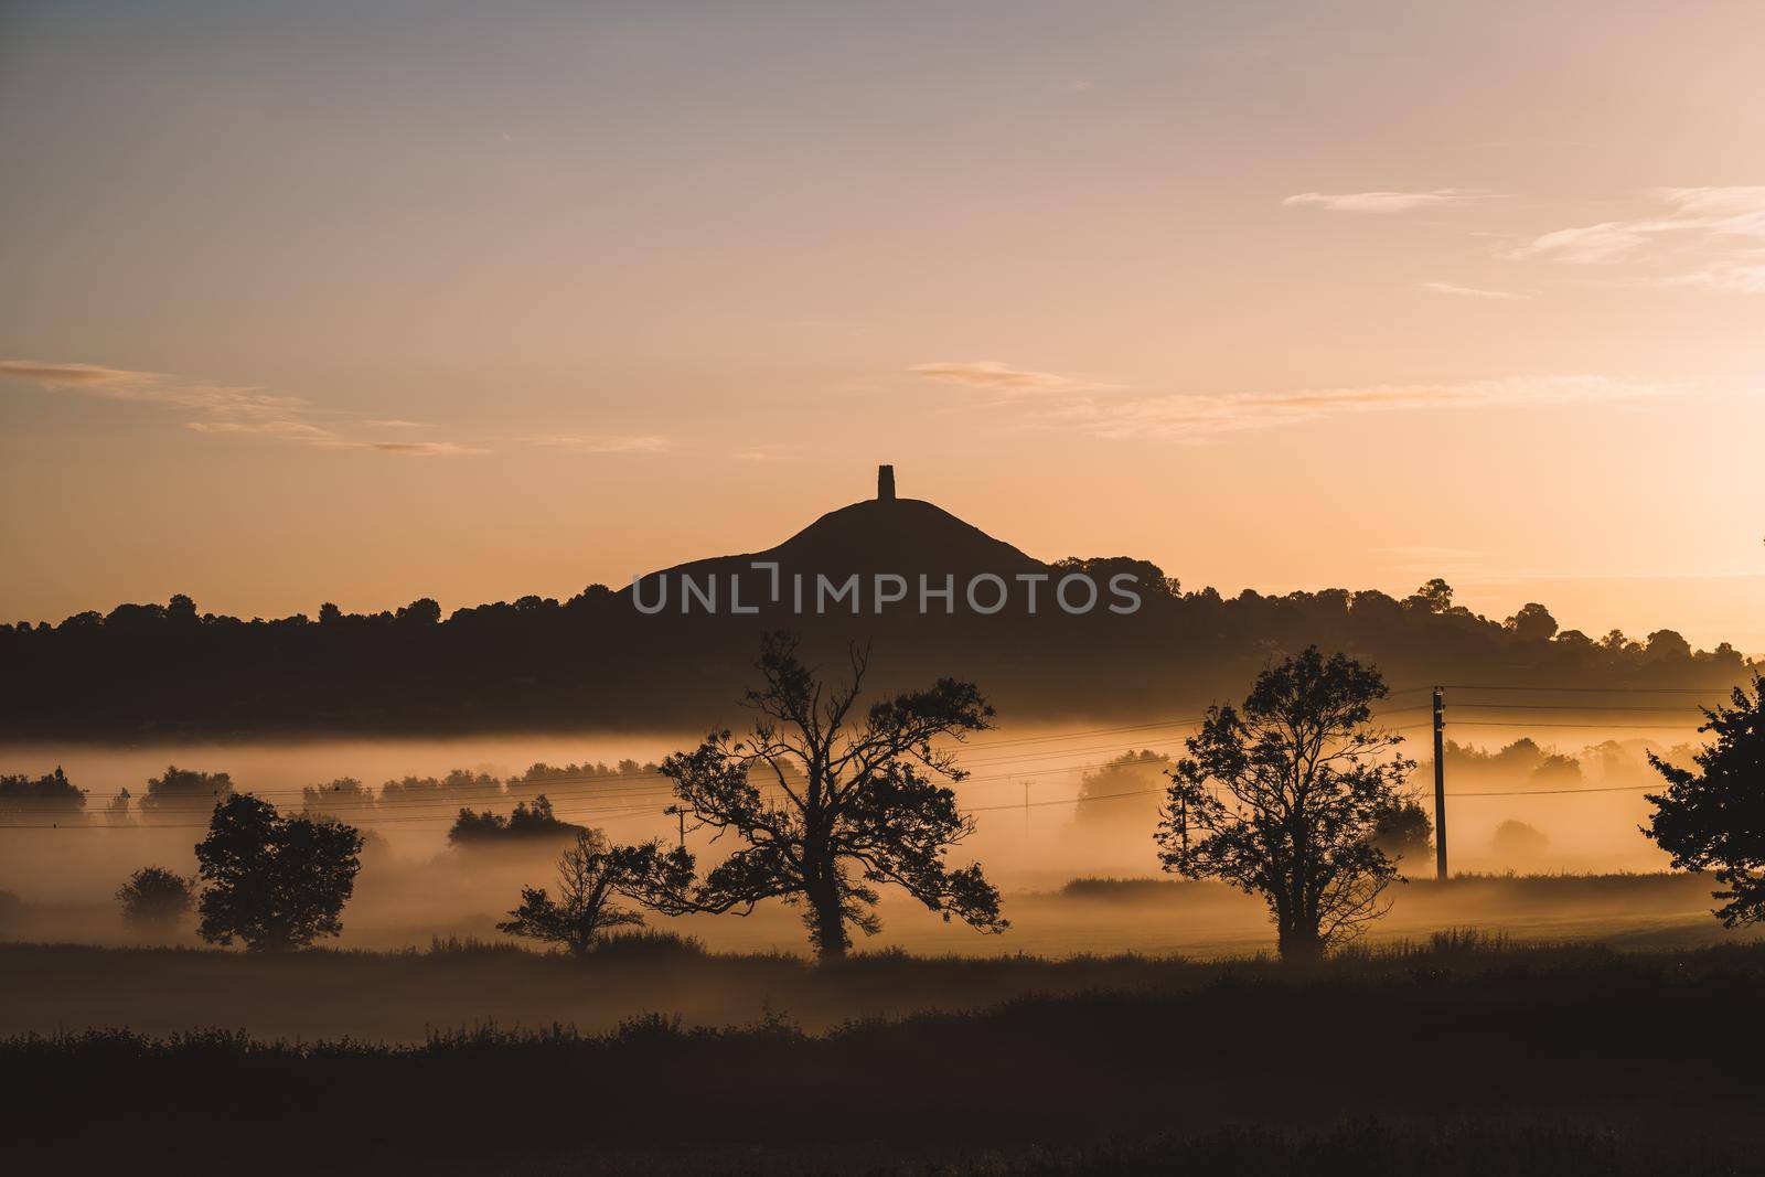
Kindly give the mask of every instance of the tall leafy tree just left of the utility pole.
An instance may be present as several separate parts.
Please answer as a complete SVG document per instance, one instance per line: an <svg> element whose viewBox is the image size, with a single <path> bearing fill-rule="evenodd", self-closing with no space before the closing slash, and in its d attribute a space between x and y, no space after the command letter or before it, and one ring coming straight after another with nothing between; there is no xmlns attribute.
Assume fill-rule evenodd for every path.
<svg viewBox="0 0 1765 1177"><path fill-rule="evenodd" d="M1414 761L1371 725L1378 671L1317 646L1269 667L1243 708L1214 706L1170 771L1165 870L1260 895L1283 958L1315 958L1389 909L1378 822Z"/></svg>

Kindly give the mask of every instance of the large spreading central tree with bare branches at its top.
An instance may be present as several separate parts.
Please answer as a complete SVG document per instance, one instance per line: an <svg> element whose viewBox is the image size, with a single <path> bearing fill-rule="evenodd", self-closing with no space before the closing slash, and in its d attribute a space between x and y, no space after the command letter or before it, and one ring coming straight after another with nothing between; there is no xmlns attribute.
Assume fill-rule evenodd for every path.
<svg viewBox="0 0 1765 1177"><path fill-rule="evenodd" d="M674 782L669 812L685 815L688 831L732 835L736 849L701 879L685 847L634 847L637 898L665 914L803 903L822 960L845 955L849 926L879 930L874 884L898 884L946 921L1004 930L999 891L980 865L946 861L974 819L943 783L965 773L939 746L987 729L994 709L973 683L948 678L860 708L868 651L852 648L849 662L847 681L826 683L801 662L796 639L764 639L762 685L745 701L755 713L750 731L740 739L713 732L662 764Z"/></svg>

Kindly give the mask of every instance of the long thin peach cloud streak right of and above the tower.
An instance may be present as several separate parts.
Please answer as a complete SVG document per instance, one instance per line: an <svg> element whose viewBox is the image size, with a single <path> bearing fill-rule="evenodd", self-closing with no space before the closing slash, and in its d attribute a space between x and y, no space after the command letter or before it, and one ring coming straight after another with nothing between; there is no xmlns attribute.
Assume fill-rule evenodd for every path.
<svg viewBox="0 0 1765 1177"><path fill-rule="evenodd" d="M1036 424L1098 438L1200 443L1225 434L1280 429L1366 413L1629 401L1671 392L1666 385L1606 376L1514 376L1438 385L1366 385L1276 394L1082 397L1045 409Z"/></svg>

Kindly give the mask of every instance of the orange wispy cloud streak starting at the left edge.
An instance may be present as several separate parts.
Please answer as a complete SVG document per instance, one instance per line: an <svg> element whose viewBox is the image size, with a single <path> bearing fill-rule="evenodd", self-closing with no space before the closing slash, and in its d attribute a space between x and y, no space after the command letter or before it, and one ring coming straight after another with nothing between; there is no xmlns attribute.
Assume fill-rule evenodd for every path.
<svg viewBox="0 0 1765 1177"><path fill-rule="evenodd" d="M44 364L39 360L0 360L0 379L23 379L101 401L157 404L194 413L185 429L199 434L258 436L327 450L378 450L387 454L482 454L473 446L427 443L406 448L342 432L348 413L327 411L304 397L265 392L258 386L194 381L166 372L141 372L99 364ZM415 422L362 422L378 427L413 427Z"/></svg>

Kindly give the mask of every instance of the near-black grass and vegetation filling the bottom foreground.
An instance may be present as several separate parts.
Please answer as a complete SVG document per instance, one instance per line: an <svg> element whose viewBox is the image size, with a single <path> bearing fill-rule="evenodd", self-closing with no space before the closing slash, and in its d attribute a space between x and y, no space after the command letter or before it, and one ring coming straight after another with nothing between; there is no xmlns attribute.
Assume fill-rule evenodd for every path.
<svg viewBox="0 0 1765 1177"><path fill-rule="evenodd" d="M600 1034L535 1020L406 1045L16 1036L0 1041L0 1131L19 1172L1723 1173L1765 1156L1765 946L1620 955L1446 935L1303 969L814 967L657 937L612 946L579 962L462 946L256 960L7 948L12 976L18 955L53 967L79 951L118 965L124 988L131 958L212 956L297 972L312 1001L341 1002L369 999L351 962L399 969L413 993L485 962L565 985L625 972L648 976L653 999L625 1008L655 1013ZM770 1008L734 1029L672 1016L657 985L745 972L764 974ZM921 1009L822 1032L794 1016L798 1002L882 1008L884 993Z"/></svg>

